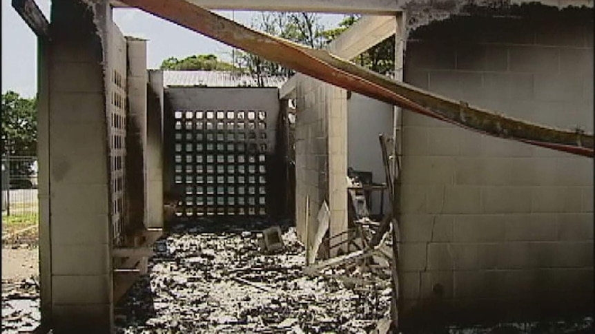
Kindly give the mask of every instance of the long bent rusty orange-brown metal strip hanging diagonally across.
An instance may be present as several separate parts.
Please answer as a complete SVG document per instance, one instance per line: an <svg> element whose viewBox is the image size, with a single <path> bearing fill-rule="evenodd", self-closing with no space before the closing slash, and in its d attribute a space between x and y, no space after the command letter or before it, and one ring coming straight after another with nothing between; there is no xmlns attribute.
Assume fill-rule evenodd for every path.
<svg viewBox="0 0 595 334"><path fill-rule="evenodd" d="M474 132L593 158L593 134L535 125L391 80L329 52L264 34L184 0L123 0L185 28L295 71Z"/></svg>

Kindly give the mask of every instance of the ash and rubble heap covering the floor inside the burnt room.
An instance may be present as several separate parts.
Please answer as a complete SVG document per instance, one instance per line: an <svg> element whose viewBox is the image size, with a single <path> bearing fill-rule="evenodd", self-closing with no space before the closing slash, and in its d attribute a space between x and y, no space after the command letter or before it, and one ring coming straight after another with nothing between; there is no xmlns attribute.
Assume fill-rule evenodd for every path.
<svg viewBox="0 0 595 334"><path fill-rule="evenodd" d="M284 247L267 253L258 226L212 226L179 225L157 240L148 275L117 305L118 333L368 333L389 309L384 278L344 282L341 268L304 274L293 227Z"/></svg>

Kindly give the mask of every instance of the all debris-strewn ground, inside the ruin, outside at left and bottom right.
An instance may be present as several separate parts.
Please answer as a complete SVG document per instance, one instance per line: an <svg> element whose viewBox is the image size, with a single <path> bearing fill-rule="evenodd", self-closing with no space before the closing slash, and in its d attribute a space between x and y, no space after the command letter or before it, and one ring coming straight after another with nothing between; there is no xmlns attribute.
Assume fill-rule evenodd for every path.
<svg viewBox="0 0 595 334"><path fill-rule="evenodd" d="M32 226L8 226L4 219L2 225L3 231ZM373 333L389 309L389 278L358 266L306 275L295 229L282 227L284 248L266 253L258 242L266 225L258 222L175 226L155 243L148 274L115 306L117 333ZM35 240L36 228L3 240L2 333L39 325ZM587 317L441 333L586 334L593 328Z"/></svg>

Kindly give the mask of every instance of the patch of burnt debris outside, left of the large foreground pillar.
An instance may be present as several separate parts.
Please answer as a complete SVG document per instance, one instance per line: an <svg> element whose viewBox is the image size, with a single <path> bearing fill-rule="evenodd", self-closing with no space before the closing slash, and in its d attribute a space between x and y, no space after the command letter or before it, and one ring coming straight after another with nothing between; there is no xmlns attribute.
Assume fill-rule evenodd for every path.
<svg viewBox="0 0 595 334"><path fill-rule="evenodd" d="M2 333L33 331L41 320L39 284L33 278L2 280Z"/></svg>

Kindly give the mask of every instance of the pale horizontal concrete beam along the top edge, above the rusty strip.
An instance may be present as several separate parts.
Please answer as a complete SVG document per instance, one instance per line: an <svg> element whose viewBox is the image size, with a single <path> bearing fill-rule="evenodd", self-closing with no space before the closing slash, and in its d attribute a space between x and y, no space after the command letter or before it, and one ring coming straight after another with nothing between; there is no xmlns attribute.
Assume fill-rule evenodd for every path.
<svg viewBox="0 0 595 334"><path fill-rule="evenodd" d="M211 10L269 10L277 12L328 12L393 14L400 12L400 0L186 0ZM113 0L115 7L127 1Z"/></svg>

